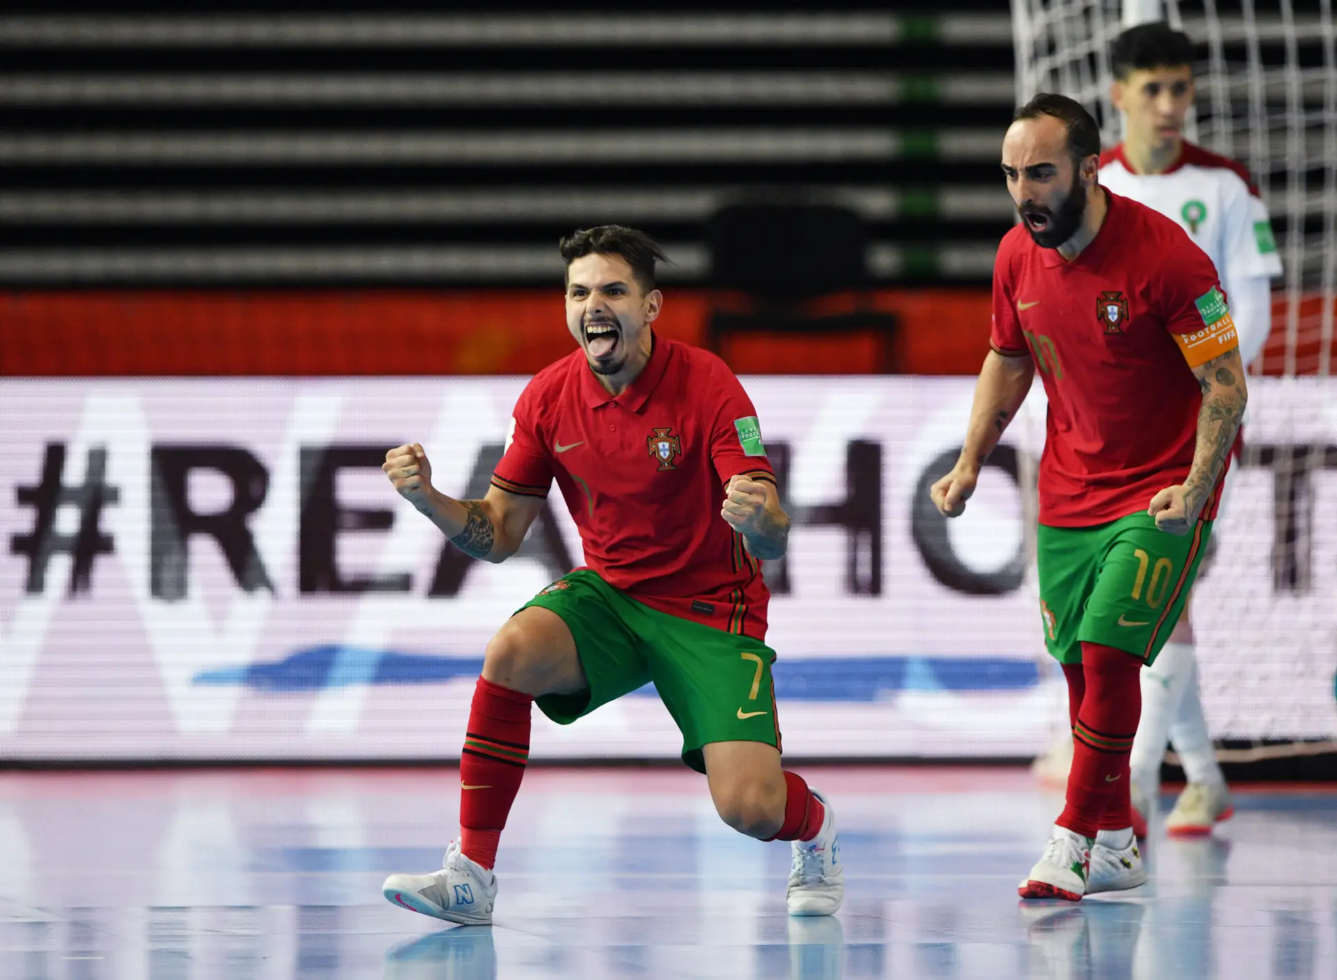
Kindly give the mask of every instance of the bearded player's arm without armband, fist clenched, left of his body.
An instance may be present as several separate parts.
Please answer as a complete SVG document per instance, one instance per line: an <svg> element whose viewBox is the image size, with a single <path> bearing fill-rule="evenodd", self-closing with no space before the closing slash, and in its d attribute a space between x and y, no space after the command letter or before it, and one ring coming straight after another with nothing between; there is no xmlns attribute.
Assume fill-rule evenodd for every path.
<svg viewBox="0 0 1337 980"><path fill-rule="evenodd" d="M1035 361L1029 354L1008 357L989 350L985 356L980 378L975 382L975 402L961 455L952 472L929 489L937 509L948 517L965 513L965 501L975 492L980 468L1025 401L1034 377Z"/></svg>

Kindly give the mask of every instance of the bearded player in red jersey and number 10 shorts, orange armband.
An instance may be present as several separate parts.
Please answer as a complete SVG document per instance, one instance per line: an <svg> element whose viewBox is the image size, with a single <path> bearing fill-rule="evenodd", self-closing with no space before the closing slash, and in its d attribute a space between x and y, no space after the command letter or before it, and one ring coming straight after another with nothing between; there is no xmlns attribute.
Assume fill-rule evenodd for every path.
<svg viewBox="0 0 1337 980"><path fill-rule="evenodd" d="M1021 223L993 266L992 352L960 460L932 488L956 516L1040 369L1040 612L1068 681L1067 806L1025 898L1146 880L1128 751L1139 671L1170 638L1211 535L1246 401L1211 261L1169 218L1100 187L1095 120L1038 95L1003 140Z"/></svg>

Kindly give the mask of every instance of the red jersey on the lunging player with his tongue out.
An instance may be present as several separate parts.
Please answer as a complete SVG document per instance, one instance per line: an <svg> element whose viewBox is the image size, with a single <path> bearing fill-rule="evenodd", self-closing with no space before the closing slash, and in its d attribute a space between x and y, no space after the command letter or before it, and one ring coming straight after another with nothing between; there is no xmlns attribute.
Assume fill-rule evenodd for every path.
<svg viewBox="0 0 1337 980"><path fill-rule="evenodd" d="M761 563L719 515L738 473L775 481L743 386L714 354L655 337L618 396L583 350L535 374L492 485L544 497L556 479L604 582L660 612L765 639Z"/></svg>

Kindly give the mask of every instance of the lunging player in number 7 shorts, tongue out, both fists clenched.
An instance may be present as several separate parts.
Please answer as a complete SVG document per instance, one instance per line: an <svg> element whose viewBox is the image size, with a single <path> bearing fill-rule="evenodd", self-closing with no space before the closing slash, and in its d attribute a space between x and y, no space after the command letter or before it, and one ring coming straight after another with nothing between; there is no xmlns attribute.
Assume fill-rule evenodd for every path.
<svg viewBox="0 0 1337 980"><path fill-rule="evenodd" d="M460 759L460 840L441 870L392 874L382 892L428 916L491 924L531 706L568 725L652 681L721 818L793 841L790 913L832 914L845 892L832 808L779 766L761 560L785 554L789 517L757 412L723 361L654 334L664 257L646 234L578 231L562 257L579 350L520 394L487 496L433 489L418 444L385 457L396 489L487 562L515 554L556 480L587 566L488 643Z"/></svg>

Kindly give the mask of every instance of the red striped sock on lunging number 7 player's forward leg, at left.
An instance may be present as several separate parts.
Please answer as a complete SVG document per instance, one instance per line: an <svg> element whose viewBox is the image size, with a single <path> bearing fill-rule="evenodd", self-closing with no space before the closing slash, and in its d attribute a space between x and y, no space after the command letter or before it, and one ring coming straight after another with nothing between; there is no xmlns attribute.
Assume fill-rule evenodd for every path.
<svg viewBox="0 0 1337 980"><path fill-rule="evenodd" d="M529 761L533 698L479 678L460 755L460 850L484 868L497 842Z"/></svg>

